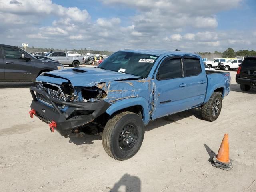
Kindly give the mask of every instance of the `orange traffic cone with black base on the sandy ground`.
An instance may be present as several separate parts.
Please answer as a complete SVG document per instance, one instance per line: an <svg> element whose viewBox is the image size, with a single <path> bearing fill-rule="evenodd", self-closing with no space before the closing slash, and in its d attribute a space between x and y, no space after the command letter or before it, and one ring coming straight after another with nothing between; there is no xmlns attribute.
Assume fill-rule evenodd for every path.
<svg viewBox="0 0 256 192"><path fill-rule="evenodd" d="M229 158L228 134L225 134L217 156L212 158L212 166L229 171L233 168L232 162Z"/></svg>

